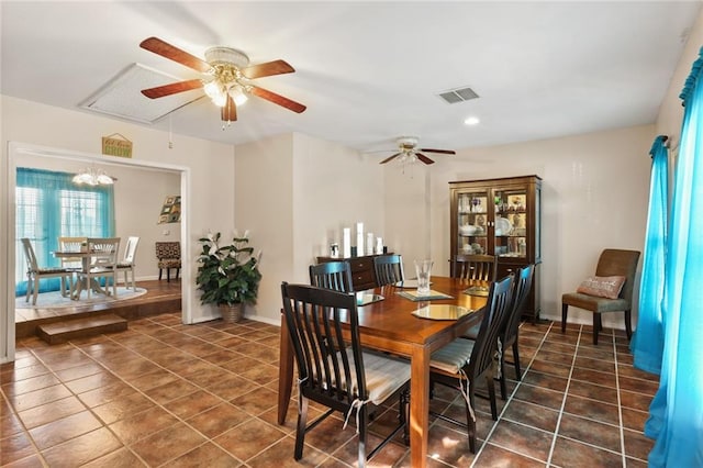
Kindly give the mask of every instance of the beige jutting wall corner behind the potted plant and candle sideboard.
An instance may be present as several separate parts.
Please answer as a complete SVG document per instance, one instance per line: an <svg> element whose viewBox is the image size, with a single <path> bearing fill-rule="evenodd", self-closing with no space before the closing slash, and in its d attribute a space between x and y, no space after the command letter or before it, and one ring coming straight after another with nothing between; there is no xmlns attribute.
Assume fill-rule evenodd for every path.
<svg viewBox="0 0 703 468"><path fill-rule="evenodd" d="M303 134L236 147L237 227L264 253L263 280L249 316L280 322L281 281L308 282L342 229L361 221L383 234L382 171L358 152Z"/></svg>

